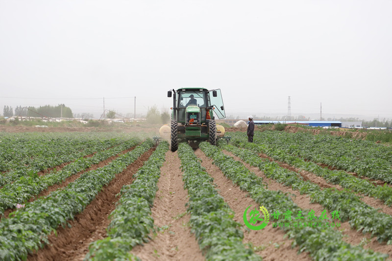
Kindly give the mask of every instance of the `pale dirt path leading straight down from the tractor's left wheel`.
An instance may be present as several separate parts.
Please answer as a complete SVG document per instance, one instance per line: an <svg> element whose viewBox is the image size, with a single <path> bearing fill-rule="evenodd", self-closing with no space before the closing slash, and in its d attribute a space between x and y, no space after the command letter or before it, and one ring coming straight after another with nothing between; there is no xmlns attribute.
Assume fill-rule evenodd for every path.
<svg viewBox="0 0 392 261"><path fill-rule="evenodd" d="M194 234L188 226L190 215L185 203L188 192L184 190L180 159L176 152L168 151L161 167L158 191L152 207L154 225L161 228L144 246L138 245L132 253L142 260L202 261L205 260Z"/></svg>

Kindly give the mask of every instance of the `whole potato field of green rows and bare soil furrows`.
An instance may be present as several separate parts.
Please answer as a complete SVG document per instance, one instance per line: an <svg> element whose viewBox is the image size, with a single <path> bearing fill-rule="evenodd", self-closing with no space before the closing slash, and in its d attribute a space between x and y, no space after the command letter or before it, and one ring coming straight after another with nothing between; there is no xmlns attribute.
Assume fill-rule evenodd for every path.
<svg viewBox="0 0 392 261"><path fill-rule="evenodd" d="M0 132L0 260L391 260L391 146L226 134Z"/></svg>

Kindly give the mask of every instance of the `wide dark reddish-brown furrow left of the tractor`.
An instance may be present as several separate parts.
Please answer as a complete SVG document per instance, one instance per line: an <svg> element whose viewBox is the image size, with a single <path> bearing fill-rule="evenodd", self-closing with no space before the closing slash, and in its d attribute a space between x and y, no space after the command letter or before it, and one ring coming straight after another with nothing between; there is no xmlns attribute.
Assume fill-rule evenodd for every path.
<svg viewBox="0 0 392 261"><path fill-rule="evenodd" d="M116 208L118 198L123 185L133 181L133 174L143 166L154 149L148 150L133 164L129 165L98 193L96 198L80 214L75 215L74 220L69 221L69 228L59 226L57 236L49 235L49 244L27 260L34 261L82 261L88 252L91 242L106 237L106 228L110 223L109 214Z"/></svg>

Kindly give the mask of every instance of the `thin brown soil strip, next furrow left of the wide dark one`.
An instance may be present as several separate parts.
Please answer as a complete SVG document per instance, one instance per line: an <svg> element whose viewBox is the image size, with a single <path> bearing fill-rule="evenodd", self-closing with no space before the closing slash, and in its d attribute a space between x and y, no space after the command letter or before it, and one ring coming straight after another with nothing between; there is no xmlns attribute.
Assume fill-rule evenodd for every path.
<svg viewBox="0 0 392 261"><path fill-rule="evenodd" d="M123 150L120 154L117 154L117 155L115 155L115 156L109 157L109 158L107 158L106 160L103 160L103 161L101 161L101 162L98 163L98 164L92 165L92 166L90 166L89 168L87 168L87 169L85 169L85 170L82 170L82 171L80 171L80 172L78 172L78 173L76 173L76 174L73 174L71 177L66 178L66 179L65 179L63 182L61 182L60 184L54 184L54 185L52 185L52 186L49 186L46 190L41 191L38 195L32 196L32 197L28 200L28 202L32 202L32 201L34 201L35 199L40 198L40 197L46 197L46 196L48 196L48 195L50 194L50 192L53 192L53 191L55 191L55 190L58 190L58 189L62 189L62 188L67 187L68 184L70 184L71 182L74 182L74 181L75 181L77 178L79 178L80 175L82 175L83 173L88 172L88 171L90 171L90 170L95 170L95 169L97 169L97 168L99 168L99 167L106 166L106 165L108 165L110 162L112 162L113 160L115 160L116 158L120 157L121 155L123 155L123 154L125 154L125 153L127 153L127 152L129 152L129 151L131 151L131 150L133 150L135 147L136 147L136 146L133 146L133 147L131 147L131 148L129 148L129 149ZM93 155L93 154L91 154L91 155ZM68 164L66 164L66 165L68 165ZM66 166L66 165L64 165L64 166ZM57 171L59 171L59 170L61 170L64 166L63 166L63 164L62 164L62 165L60 165L60 166L56 166L55 168L57 169ZM3 217L7 218L8 215L9 215L10 213L14 212L15 210L16 210L16 209L6 209L6 210L4 211L4 216L3 216Z"/></svg>

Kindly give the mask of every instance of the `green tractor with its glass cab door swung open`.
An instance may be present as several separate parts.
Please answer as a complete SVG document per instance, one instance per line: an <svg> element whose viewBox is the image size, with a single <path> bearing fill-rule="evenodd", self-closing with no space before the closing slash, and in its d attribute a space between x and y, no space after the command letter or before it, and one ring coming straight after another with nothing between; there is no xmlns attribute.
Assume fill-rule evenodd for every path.
<svg viewBox="0 0 392 261"><path fill-rule="evenodd" d="M171 150L176 151L181 141L189 141L191 144L208 141L216 145L217 127L219 134L224 134L224 128L217 126L214 113L219 119L226 117L221 90L181 88L169 91L168 97L173 97Z"/></svg>

